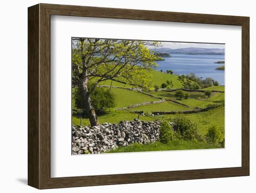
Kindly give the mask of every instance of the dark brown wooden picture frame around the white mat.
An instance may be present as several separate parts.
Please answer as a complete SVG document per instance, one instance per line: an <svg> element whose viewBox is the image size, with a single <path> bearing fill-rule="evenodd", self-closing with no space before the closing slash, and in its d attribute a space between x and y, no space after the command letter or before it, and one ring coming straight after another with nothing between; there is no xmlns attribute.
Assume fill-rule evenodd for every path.
<svg viewBox="0 0 256 193"><path fill-rule="evenodd" d="M66 15L242 26L242 167L51 178L50 16ZM88 6L28 8L28 185L39 189L249 175L249 17Z"/></svg>

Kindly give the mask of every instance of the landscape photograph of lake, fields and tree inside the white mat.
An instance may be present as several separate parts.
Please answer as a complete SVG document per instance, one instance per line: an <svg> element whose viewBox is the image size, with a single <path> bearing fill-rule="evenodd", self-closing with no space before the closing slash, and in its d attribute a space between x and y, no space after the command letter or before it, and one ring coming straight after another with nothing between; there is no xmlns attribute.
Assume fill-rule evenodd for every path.
<svg viewBox="0 0 256 193"><path fill-rule="evenodd" d="M225 44L71 42L72 155L225 148Z"/></svg>

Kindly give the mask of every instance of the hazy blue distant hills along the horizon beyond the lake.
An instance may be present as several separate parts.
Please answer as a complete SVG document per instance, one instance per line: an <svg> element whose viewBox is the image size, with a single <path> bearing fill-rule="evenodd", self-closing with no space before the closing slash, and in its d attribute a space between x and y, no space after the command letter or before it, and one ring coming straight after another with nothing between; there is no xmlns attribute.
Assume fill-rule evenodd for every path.
<svg viewBox="0 0 256 193"><path fill-rule="evenodd" d="M156 52L167 52L167 53L183 53L183 54L212 54L212 55L224 55L225 49L219 48L179 48L179 49L171 49L171 48L156 48L150 49L151 51Z"/></svg>

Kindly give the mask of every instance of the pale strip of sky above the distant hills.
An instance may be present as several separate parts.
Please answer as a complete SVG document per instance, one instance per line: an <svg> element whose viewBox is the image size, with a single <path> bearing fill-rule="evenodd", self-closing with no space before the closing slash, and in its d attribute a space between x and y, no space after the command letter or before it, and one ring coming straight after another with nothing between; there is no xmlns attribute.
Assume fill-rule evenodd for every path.
<svg viewBox="0 0 256 193"><path fill-rule="evenodd" d="M163 48L179 49L188 47L198 48L225 48L224 44L205 44L205 43L183 43L183 42L161 42Z"/></svg>

